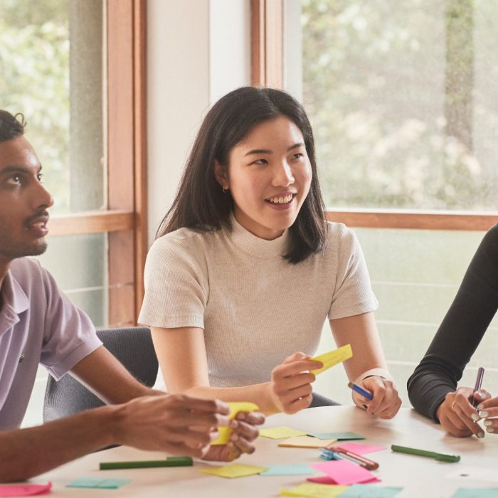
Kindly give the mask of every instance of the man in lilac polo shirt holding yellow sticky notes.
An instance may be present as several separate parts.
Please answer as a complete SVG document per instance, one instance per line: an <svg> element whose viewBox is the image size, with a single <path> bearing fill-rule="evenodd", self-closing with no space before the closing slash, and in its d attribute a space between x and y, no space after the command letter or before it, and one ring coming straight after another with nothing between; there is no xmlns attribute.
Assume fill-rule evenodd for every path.
<svg viewBox="0 0 498 498"><path fill-rule="evenodd" d="M48 208L41 164L24 124L0 110L0 482L23 480L112 444L208 460L253 452L260 413L228 420L228 406L153 391L137 382L95 334L90 319L26 256L46 250ZM70 371L110 406L19 429L38 364ZM213 446L216 426L233 440ZM63 435L63 437L62 437Z"/></svg>

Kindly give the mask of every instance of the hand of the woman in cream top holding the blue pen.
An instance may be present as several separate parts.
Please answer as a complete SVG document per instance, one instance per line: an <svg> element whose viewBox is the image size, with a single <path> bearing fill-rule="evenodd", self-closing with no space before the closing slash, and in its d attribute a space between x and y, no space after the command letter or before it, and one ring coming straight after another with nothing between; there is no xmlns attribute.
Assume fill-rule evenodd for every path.
<svg viewBox="0 0 498 498"><path fill-rule="evenodd" d="M393 381L381 376L371 376L356 382L366 391L372 393L371 400L353 391L353 401L356 406L366 408L366 413L379 418L393 418L401 407L401 399L394 387Z"/></svg>

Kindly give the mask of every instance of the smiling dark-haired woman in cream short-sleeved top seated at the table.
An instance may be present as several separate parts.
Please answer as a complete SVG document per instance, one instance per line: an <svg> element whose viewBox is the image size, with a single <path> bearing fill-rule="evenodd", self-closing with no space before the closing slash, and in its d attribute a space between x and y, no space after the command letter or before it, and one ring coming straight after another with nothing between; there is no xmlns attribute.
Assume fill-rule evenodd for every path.
<svg viewBox="0 0 498 498"><path fill-rule="evenodd" d="M239 88L208 112L145 287L139 322L170 392L253 401L264 413L306 408L328 317L337 345L353 349L349 379L373 393L354 402L382 418L401 406L361 248L324 221L312 128L285 92Z"/></svg>

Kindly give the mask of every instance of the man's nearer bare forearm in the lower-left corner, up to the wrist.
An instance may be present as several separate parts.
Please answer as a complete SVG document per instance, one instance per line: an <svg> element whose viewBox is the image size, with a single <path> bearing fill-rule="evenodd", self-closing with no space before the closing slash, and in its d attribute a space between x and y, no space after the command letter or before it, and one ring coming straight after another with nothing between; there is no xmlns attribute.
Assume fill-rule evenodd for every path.
<svg viewBox="0 0 498 498"><path fill-rule="evenodd" d="M26 480L115 444L115 408L104 406L33 428L0 432L0 482Z"/></svg>

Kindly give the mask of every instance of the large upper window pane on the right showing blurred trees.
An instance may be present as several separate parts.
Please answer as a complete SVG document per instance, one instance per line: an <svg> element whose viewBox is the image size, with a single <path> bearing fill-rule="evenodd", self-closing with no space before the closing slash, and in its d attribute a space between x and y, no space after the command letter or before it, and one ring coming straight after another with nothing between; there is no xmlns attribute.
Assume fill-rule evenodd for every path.
<svg viewBox="0 0 498 498"><path fill-rule="evenodd" d="M496 211L498 2L300 7L302 100L327 205Z"/></svg>

